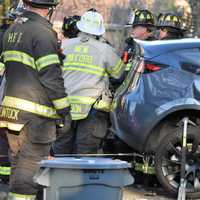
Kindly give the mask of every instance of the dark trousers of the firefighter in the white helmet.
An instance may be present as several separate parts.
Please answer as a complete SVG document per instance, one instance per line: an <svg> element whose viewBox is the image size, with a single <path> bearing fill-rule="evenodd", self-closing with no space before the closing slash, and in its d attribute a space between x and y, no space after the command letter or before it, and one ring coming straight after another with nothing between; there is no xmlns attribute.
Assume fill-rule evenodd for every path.
<svg viewBox="0 0 200 200"><path fill-rule="evenodd" d="M91 112L86 119L72 122L68 133L58 135L53 143L54 154L97 153L108 128L108 114Z"/></svg>

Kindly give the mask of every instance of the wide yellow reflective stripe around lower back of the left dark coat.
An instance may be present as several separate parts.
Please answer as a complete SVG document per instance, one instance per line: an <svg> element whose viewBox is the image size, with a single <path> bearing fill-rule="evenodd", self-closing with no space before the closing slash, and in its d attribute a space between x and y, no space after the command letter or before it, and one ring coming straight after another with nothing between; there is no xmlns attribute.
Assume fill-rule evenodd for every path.
<svg viewBox="0 0 200 200"><path fill-rule="evenodd" d="M5 96L2 105L31 112L44 117L59 118L54 108L45 105L40 105L25 99Z"/></svg>

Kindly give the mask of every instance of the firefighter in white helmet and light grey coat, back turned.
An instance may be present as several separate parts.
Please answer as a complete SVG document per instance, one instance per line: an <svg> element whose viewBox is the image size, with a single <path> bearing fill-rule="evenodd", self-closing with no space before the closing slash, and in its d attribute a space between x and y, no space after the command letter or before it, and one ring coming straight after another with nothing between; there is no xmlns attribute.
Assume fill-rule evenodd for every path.
<svg viewBox="0 0 200 200"><path fill-rule="evenodd" d="M99 40L105 28L97 11L85 12L77 27L81 31L78 38L63 46L66 55L63 77L73 129L54 143L55 154L98 152L108 128L112 101L109 77L119 78L124 69L116 51Z"/></svg>

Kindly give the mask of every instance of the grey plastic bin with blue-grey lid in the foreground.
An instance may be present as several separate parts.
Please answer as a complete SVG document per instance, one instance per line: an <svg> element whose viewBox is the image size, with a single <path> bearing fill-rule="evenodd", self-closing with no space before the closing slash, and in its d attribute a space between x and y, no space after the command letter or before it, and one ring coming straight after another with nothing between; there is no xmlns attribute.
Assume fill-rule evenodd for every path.
<svg viewBox="0 0 200 200"><path fill-rule="evenodd" d="M121 160L68 157L39 164L34 179L45 186L44 200L122 200L122 188L134 182Z"/></svg>

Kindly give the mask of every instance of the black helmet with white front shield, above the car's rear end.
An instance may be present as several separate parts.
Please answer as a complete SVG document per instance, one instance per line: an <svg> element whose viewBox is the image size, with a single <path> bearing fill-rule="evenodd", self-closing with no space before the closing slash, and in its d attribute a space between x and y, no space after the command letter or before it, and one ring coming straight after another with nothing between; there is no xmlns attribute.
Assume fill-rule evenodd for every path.
<svg viewBox="0 0 200 200"><path fill-rule="evenodd" d="M132 10L129 16L129 26L155 26L155 17L149 10Z"/></svg>

